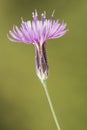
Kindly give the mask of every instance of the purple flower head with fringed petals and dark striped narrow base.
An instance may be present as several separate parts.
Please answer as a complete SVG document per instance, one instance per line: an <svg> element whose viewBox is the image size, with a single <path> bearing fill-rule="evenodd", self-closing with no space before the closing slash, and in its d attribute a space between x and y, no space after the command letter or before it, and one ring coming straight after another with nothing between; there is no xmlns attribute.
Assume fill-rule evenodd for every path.
<svg viewBox="0 0 87 130"><path fill-rule="evenodd" d="M37 11L32 13L33 20L24 22L22 19L21 27L13 27L9 31L11 37L8 36L12 42L23 42L25 44L33 44L35 46L36 58L36 72L41 80L48 77L48 63L46 57L46 42L49 39L59 38L65 35L68 31L67 24L58 20L53 20L54 12L50 19L46 18L46 12L41 14L41 20L38 20Z"/></svg>

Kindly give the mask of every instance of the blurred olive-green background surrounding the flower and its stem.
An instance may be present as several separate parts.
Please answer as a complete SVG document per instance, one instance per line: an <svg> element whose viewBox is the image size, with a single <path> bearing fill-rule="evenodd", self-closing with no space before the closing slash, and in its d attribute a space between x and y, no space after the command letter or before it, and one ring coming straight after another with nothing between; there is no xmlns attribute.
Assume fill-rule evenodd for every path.
<svg viewBox="0 0 87 130"><path fill-rule="evenodd" d="M69 32L47 43L48 90L61 130L87 130L87 0L0 0L0 130L57 130L35 72L33 45L7 33L37 9Z"/></svg>

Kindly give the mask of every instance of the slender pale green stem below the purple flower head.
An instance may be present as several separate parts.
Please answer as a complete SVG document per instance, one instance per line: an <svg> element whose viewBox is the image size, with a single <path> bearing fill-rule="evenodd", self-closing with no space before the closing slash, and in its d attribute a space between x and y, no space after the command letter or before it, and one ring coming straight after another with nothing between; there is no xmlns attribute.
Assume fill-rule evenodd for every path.
<svg viewBox="0 0 87 130"><path fill-rule="evenodd" d="M46 85L45 81L41 81L41 83L44 87L45 94L46 94L46 97L47 97L47 100L48 100L48 103L49 103L49 106L50 106L50 109L51 109L51 112L52 112L52 116L53 116L53 119L54 119L55 124L56 124L56 127L57 127L58 130L61 130L59 123L58 123L58 120L57 120L57 117L56 117L56 114L55 114L55 111L54 111L54 108L53 108L53 105L52 105L52 101L50 99L50 95L49 95L48 90L47 90L47 85Z"/></svg>

